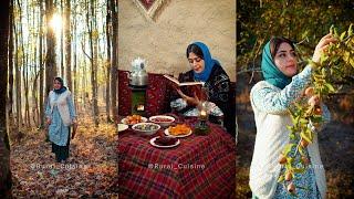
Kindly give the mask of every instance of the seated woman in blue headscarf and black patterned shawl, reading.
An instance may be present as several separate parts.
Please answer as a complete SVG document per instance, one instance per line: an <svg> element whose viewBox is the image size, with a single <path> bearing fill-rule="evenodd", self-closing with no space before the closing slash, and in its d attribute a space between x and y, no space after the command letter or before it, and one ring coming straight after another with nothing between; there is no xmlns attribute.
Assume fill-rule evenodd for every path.
<svg viewBox="0 0 354 199"><path fill-rule="evenodd" d="M179 74L179 82L205 82L204 95L197 95L192 86L176 88L171 95L170 106L183 113L185 116L198 116L198 106L207 102L209 119L214 123L221 122L228 133L235 136L236 114L232 107L235 101L230 91L230 78L221 67L221 64L214 60L209 49L201 42L188 45L186 52L191 70Z"/></svg>

